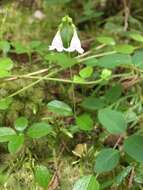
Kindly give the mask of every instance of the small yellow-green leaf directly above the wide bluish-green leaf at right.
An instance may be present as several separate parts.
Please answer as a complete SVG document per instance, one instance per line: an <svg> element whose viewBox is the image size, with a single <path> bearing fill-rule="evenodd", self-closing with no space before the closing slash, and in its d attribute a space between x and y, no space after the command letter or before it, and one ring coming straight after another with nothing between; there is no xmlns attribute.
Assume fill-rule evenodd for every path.
<svg viewBox="0 0 143 190"><path fill-rule="evenodd" d="M117 45L115 47L115 50L118 53L131 54L134 52L135 47L132 45L128 45L128 44L123 44L123 45Z"/></svg>

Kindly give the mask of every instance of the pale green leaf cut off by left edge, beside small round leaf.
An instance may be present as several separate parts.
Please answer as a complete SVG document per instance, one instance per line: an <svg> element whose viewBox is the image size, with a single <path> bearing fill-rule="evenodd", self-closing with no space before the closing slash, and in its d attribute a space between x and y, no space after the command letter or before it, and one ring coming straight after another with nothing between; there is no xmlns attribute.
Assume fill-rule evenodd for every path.
<svg viewBox="0 0 143 190"><path fill-rule="evenodd" d="M16 135L16 132L12 128L0 127L0 142L8 142L14 135Z"/></svg>

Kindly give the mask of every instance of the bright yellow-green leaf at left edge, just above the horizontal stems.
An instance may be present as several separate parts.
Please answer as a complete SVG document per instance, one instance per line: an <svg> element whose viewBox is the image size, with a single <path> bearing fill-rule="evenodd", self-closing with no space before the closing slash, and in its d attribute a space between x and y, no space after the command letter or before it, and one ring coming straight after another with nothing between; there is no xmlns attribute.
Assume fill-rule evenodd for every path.
<svg viewBox="0 0 143 190"><path fill-rule="evenodd" d="M10 58L0 58L0 70L9 71L13 68L13 61Z"/></svg>

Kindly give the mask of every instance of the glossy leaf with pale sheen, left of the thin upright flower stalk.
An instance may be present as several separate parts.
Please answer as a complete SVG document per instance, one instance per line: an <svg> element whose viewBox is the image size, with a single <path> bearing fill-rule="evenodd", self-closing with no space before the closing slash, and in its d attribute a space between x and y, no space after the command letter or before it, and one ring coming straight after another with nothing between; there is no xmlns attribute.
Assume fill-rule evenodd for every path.
<svg viewBox="0 0 143 190"><path fill-rule="evenodd" d="M49 111L56 113L58 115L61 115L61 116L73 115L71 107L62 101L53 100L49 102L47 106L48 106Z"/></svg>

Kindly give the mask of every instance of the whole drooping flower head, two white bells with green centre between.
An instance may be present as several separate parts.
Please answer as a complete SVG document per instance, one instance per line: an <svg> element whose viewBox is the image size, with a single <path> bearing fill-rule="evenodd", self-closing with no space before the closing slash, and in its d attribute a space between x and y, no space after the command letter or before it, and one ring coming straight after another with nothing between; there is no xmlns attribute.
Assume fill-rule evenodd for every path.
<svg viewBox="0 0 143 190"><path fill-rule="evenodd" d="M74 52L82 54L84 49L81 47L80 39L77 35L76 27L69 16L62 19L62 23L53 38L49 50L57 50L58 52Z"/></svg>

